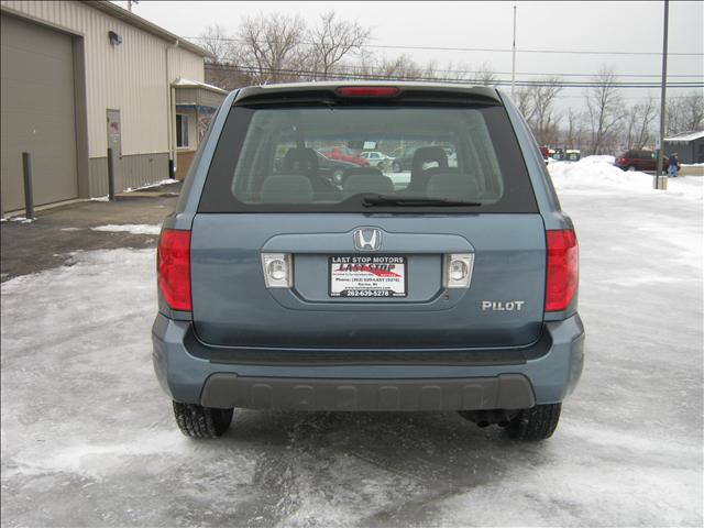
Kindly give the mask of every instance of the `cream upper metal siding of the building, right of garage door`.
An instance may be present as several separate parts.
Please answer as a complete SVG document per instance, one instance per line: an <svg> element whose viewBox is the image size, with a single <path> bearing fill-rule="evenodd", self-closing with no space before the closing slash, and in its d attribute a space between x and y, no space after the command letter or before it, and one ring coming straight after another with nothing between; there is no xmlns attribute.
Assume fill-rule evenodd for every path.
<svg viewBox="0 0 704 528"><path fill-rule="evenodd" d="M202 57L179 47L168 50L172 47L168 42L82 2L2 0L0 3L84 35L89 157L101 157L107 151L108 108L120 110L124 155L168 151L169 85L178 77L202 81ZM121 45L110 44L109 31L122 36ZM91 195L96 193L91 190Z"/></svg>

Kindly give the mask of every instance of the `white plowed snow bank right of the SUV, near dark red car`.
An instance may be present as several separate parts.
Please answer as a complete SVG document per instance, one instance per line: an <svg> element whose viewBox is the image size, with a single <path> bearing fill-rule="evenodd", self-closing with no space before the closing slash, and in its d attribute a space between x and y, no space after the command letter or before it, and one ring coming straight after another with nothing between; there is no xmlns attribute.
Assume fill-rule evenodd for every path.
<svg viewBox="0 0 704 528"><path fill-rule="evenodd" d="M614 165L614 156L587 156L575 163L556 162L548 166L548 170L558 191L667 195L701 201L704 188L704 178L690 176L670 178L667 191L656 190L652 188L652 175L622 170Z"/></svg>

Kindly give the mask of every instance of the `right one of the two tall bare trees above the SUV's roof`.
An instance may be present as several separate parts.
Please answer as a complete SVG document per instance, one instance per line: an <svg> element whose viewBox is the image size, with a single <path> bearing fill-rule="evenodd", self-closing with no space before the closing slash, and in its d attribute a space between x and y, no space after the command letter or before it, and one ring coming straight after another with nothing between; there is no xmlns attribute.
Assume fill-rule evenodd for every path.
<svg viewBox="0 0 704 528"><path fill-rule="evenodd" d="M356 21L341 20L334 11L322 13L307 35L312 70L326 78L345 56L359 52L370 36L371 30Z"/></svg>

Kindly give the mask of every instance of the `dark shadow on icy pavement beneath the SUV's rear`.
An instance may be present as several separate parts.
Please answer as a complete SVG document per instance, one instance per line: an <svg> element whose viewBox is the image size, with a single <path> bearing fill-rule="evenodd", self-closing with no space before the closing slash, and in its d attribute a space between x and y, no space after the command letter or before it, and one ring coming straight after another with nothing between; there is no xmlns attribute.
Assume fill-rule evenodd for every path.
<svg viewBox="0 0 704 528"><path fill-rule="evenodd" d="M364 508L364 501L381 501L364 498L373 483L386 504L370 503L364 526L422 526L438 502L496 484L516 463L535 466L554 458L549 441L517 442L457 413L241 410L221 441L246 446L256 457L254 484L279 506L322 494Z"/></svg>

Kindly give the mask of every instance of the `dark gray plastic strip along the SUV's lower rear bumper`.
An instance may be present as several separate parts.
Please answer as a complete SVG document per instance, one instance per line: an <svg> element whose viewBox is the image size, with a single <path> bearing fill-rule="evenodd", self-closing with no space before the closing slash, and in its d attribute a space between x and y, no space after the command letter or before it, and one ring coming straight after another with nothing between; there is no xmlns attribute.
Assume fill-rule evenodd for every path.
<svg viewBox="0 0 704 528"><path fill-rule="evenodd" d="M283 410L525 409L536 405L520 374L469 380L319 380L213 374L206 407Z"/></svg>

